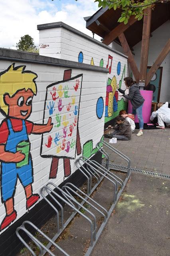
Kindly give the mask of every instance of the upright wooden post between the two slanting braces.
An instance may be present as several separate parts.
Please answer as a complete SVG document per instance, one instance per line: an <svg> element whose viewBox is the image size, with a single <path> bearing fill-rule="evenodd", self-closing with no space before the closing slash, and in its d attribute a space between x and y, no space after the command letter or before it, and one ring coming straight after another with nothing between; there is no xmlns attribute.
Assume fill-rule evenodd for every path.
<svg viewBox="0 0 170 256"><path fill-rule="evenodd" d="M143 32L142 32L142 46L141 46L141 54L140 54L140 74L139 74L139 80L141 80L142 82L146 81L152 9L151 8L145 9L144 14L146 15L144 15L144 18L143 18Z"/></svg>

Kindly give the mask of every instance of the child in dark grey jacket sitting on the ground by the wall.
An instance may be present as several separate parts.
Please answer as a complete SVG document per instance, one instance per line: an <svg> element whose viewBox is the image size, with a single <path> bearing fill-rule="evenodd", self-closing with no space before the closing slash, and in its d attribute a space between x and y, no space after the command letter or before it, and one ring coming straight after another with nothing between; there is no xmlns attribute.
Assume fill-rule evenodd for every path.
<svg viewBox="0 0 170 256"><path fill-rule="evenodd" d="M117 138L117 140L130 140L132 135L132 130L130 127L130 123L123 118L123 116L117 116L115 118L117 126L111 126L110 128L115 131L111 131L108 129L108 132L105 132L106 138Z"/></svg>

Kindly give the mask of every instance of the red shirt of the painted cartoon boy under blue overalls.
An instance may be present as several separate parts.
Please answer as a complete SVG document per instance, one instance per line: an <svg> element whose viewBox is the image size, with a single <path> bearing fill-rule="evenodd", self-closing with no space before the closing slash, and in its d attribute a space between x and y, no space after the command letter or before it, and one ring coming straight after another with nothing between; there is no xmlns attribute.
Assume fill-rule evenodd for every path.
<svg viewBox="0 0 170 256"><path fill-rule="evenodd" d="M14 132L20 132L22 130L22 119L10 118L12 128ZM31 134L33 129L33 123L25 120L27 134ZM2 121L0 125L0 144L6 144L9 135L7 120Z"/></svg>

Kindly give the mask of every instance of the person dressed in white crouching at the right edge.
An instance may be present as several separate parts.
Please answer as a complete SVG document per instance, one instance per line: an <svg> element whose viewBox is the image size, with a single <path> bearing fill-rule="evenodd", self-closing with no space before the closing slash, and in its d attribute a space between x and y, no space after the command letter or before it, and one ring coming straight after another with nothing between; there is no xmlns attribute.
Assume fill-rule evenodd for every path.
<svg viewBox="0 0 170 256"><path fill-rule="evenodd" d="M154 118L158 117L158 126L157 128L165 129L164 122L166 125L170 128L170 108L168 108L168 102L165 104L162 102L159 102L157 104L158 110L155 112L152 112L152 115L150 116L150 121L153 121Z"/></svg>

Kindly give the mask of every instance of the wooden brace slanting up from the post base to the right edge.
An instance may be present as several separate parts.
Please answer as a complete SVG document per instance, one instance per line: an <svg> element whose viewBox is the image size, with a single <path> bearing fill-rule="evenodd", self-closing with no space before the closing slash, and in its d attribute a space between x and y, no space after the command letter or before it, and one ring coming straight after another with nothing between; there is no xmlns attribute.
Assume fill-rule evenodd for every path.
<svg viewBox="0 0 170 256"><path fill-rule="evenodd" d="M168 42L166 43L166 45L164 46L164 48L160 52L158 58L156 59L156 61L154 62L154 64L150 68L149 72L147 73L146 86L148 85L148 83L152 79L153 75L155 74L156 70L158 70L158 68L160 67L164 58L166 58L166 56L168 55L169 52L170 52L170 39L168 40Z"/></svg>

